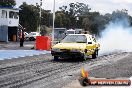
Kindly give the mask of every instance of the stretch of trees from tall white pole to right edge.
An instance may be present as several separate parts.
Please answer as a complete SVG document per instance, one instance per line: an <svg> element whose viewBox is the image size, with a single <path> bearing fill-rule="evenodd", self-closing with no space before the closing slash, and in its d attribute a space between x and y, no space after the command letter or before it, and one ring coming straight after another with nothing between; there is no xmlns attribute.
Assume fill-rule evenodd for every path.
<svg viewBox="0 0 132 88"><path fill-rule="evenodd" d="M67 7L69 9L67 10ZM112 14L100 15L99 12L90 12L91 8L89 5L84 3L70 3L69 6L60 7L60 12L56 14L56 26L57 27L72 27L72 28L82 28L85 31L89 31L92 34L99 36L100 32L105 29L106 24L115 19L126 18L130 20L132 25L132 17L128 16L127 10L116 10ZM60 16L59 13L63 13L64 17ZM68 19L67 24L63 22L65 19Z"/></svg>

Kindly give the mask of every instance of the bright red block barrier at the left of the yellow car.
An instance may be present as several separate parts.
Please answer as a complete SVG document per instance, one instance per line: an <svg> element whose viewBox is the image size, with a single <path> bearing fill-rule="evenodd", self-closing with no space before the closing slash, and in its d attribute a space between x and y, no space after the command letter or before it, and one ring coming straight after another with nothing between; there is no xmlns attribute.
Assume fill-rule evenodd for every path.
<svg viewBox="0 0 132 88"><path fill-rule="evenodd" d="M50 50L51 38L49 36L36 37L36 50Z"/></svg>

